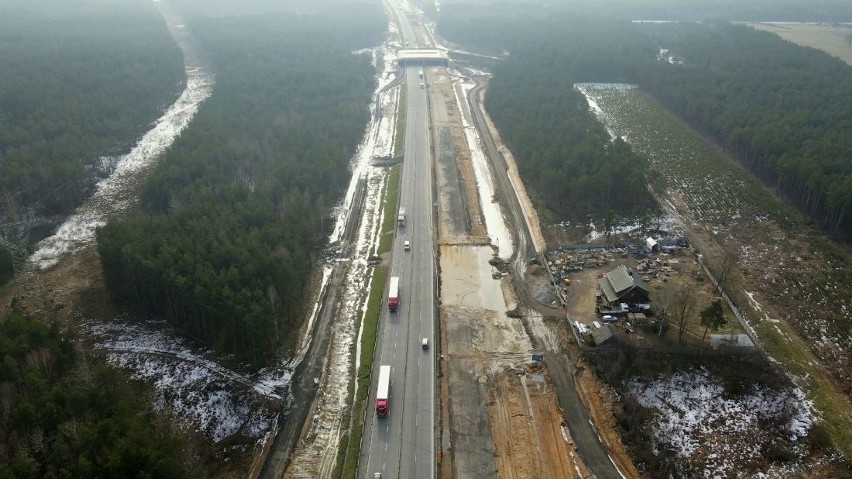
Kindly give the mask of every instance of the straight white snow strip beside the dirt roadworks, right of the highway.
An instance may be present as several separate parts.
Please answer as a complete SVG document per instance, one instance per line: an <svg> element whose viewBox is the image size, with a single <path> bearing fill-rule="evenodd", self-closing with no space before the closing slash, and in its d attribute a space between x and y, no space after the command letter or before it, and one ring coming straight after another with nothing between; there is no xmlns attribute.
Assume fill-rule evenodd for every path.
<svg viewBox="0 0 852 479"><path fill-rule="evenodd" d="M458 88L453 88L453 93L456 97L456 104L459 111L462 112L461 120L464 127L464 136L467 140L467 147L470 150L470 159L473 163L473 171L476 176L476 185L479 189L479 204L482 208L482 215L485 217L485 229L488 230L488 237L491 243L498 247L501 257L509 258L515 251L515 245L512 241L512 233L506 226L503 220L503 211L500 208L500 203L493 201L494 198L494 177L491 174L491 169L488 166L488 159L485 153L482 152L479 133L476 127L473 126L472 120L469 118L470 109L467 106L465 98L467 94L476 86L473 82L458 82ZM459 88L462 89L461 95Z"/></svg>

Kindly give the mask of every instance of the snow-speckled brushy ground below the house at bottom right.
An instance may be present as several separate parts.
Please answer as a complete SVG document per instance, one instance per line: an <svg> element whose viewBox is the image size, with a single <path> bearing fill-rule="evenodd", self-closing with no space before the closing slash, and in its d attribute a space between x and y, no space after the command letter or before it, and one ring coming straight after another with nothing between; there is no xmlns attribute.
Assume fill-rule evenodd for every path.
<svg viewBox="0 0 852 479"><path fill-rule="evenodd" d="M779 391L752 385L734 396L706 370L650 382L634 380L628 390L639 404L658 411L655 452L674 452L703 477L732 477L743 470L766 473L754 469L764 464L767 448L781 441L794 453L803 453L799 439L814 422L813 404L799 388Z"/></svg>

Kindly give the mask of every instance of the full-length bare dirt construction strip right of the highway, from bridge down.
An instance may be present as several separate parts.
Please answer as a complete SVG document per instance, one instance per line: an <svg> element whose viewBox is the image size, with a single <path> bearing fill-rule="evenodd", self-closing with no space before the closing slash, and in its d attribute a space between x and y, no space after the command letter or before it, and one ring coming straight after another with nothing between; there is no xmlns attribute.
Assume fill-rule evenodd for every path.
<svg viewBox="0 0 852 479"><path fill-rule="evenodd" d="M546 371L529 371L543 383L525 374L532 346L521 321L506 315L517 307L514 287L493 277L491 248L475 246L488 240L470 153L450 79L437 79L430 102L442 245L442 477L587 477ZM453 214L458 205L467 221ZM536 324L544 327L540 316Z"/></svg>

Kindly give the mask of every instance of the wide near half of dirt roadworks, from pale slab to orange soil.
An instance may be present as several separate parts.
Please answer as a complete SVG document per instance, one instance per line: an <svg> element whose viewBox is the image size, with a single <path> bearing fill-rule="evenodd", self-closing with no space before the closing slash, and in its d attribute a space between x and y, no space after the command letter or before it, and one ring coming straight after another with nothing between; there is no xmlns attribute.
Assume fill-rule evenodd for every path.
<svg viewBox="0 0 852 479"><path fill-rule="evenodd" d="M532 346L523 325L505 309L489 309L505 283L477 274L476 262L490 249L471 249L445 246L441 254L453 461L445 477L581 477L546 370L529 369ZM509 301L504 308L513 306Z"/></svg>

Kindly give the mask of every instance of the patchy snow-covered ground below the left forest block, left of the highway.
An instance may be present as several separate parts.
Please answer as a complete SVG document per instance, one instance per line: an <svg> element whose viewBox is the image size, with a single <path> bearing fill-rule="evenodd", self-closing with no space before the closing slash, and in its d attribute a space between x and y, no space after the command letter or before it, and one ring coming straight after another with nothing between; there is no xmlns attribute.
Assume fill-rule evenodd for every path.
<svg viewBox="0 0 852 479"><path fill-rule="evenodd" d="M107 361L153 383L159 407L174 411L219 442L235 434L263 437L275 412L265 406L290 381L289 370L249 377L222 367L170 334L163 322L86 322L81 333L106 352Z"/></svg>

